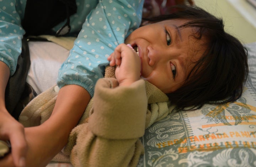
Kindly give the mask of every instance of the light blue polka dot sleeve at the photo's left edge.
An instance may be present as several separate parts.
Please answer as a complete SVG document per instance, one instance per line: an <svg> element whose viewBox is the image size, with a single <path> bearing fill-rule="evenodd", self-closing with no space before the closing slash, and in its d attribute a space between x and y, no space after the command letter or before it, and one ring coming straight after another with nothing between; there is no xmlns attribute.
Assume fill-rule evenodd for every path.
<svg viewBox="0 0 256 167"><path fill-rule="evenodd" d="M21 54L21 40L25 31L21 27L21 17L24 9L16 4L16 0L0 0L0 61L10 68L13 75L18 56Z"/></svg>

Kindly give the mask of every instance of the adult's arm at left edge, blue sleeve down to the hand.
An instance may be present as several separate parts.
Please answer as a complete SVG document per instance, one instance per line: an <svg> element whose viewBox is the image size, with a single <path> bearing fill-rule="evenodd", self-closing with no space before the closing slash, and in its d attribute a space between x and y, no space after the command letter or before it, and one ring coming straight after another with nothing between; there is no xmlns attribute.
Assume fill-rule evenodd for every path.
<svg viewBox="0 0 256 167"><path fill-rule="evenodd" d="M25 31L15 0L0 1L0 139L10 140L11 156L16 166L24 166L27 145L24 128L6 110L5 88L10 75L16 70L21 54L21 40Z"/></svg>

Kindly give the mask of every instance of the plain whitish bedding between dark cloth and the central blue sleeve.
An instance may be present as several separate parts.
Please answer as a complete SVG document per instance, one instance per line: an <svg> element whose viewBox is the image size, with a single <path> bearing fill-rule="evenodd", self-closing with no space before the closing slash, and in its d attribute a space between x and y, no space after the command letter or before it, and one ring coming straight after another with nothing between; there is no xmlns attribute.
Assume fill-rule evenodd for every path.
<svg viewBox="0 0 256 167"><path fill-rule="evenodd" d="M42 93L57 81L58 70L68 57L69 50L53 42L28 42L31 66L27 82L37 94Z"/></svg>

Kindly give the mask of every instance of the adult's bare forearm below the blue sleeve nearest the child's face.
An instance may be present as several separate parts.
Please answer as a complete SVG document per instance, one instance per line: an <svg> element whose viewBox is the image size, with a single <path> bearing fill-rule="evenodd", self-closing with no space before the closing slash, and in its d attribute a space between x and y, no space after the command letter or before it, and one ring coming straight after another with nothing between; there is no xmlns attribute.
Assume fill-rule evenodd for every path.
<svg viewBox="0 0 256 167"><path fill-rule="evenodd" d="M83 87L66 85L59 90L50 118L39 126L25 128L26 167L44 167L63 149L89 100L90 95ZM13 157L7 155L0 166L13 167Z"/></svg>

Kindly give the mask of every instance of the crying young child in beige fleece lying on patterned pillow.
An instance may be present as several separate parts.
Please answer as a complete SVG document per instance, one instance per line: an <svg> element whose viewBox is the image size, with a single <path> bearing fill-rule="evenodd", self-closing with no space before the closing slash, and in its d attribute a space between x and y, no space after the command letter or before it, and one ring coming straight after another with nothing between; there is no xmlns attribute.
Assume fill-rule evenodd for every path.
<svg viewBox="0 0 256 167"><path fill-rule="evenodd" d="M222 44L216 38L231 40L235 47ZM143 154L138 138L145 128L169 113L167 101L171 98L172 104L183 109L198 108L206 103L201 96L207 97L207 102L218 104L241 95L247 75L246 52L237 39L224 32L221 20L202 9L185 7L169 15L167 20L136 29L125 43L119 44L107 58L111 66L116 66L116 80L97 81L93 104L86 108L87 116L70 134L64 152L70 155L74 166L136 166ZM224 48L208 50L212 46L218 48L215 45ZM237 50L231 52L229 47ZM237 59L239 64L233 66ZM200 75L208 70L211 70L210 76ZM218 71L222 71L221 75ZM225 75L231 77L222 82ZM234 75L238 77L232 77ZM201 77L203 82L198 81ZM205 77L215 82L208 83ZM222 80L218 82L219 78ZM190 89L194 82L198 88ZM237 85L230 86L233 82ZM175 101L173 94L179 95L180 91L184 98ZM223 101L215 101L217 99ZM153 106L159 109L154 110Z"/></svg>

